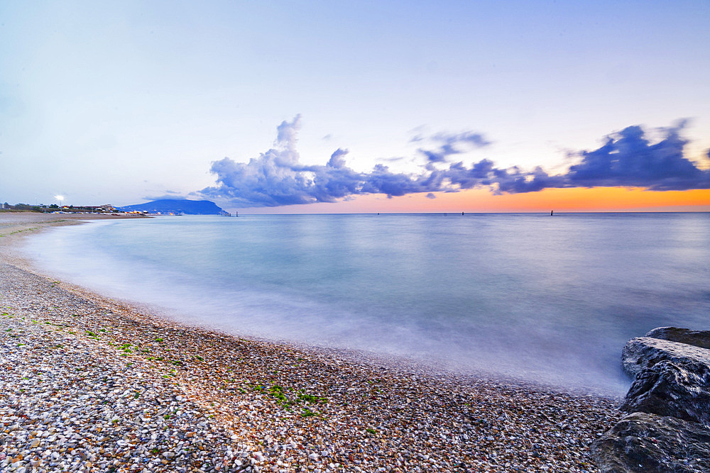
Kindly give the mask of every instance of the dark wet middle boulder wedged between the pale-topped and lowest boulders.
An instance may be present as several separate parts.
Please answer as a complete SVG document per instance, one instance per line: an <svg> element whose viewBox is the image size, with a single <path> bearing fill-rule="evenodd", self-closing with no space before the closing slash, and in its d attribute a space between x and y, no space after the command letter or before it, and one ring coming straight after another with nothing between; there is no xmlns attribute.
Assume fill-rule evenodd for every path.
<svg viewBox="0 0 710 473"><path fill-rule="evenodd" d="M710 365L663 360L638 374L621 411L672 416L710 425Z"/></svg>

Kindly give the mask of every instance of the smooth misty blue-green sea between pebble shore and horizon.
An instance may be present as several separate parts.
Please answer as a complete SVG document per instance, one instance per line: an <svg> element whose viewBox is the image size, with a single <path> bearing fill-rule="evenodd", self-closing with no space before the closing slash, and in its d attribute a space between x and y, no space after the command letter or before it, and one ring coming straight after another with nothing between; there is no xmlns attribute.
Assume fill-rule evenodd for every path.
<svg viewBox="0 0 710 473"><path fill-rule="evenodd" d="M26 250L189 323L603 394L629 338L710 329L710 213L181 216Z"/></svg>

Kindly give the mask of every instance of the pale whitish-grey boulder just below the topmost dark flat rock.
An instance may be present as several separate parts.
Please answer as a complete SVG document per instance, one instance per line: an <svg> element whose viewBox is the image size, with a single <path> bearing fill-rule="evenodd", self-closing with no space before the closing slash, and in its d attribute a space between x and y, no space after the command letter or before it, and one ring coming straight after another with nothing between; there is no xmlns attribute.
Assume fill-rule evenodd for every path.
<svg viewBox="0 0 710 473"><path fill-rule="evenodd" d="M699 362L710 365L710 350L660 338L632 338L621 351L621 364L632 377L658 362Z"/></svg>

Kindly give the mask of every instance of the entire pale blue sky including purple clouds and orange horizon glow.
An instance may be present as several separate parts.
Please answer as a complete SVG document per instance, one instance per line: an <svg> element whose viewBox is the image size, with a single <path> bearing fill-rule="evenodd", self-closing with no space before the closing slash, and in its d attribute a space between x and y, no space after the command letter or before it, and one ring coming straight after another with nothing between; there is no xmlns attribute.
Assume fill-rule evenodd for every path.
<svg viewBox="0 0 710 473"><path fill-rule="evenodd" d="M0 201L710 211L709 22L706 0L0 0Z"/></svg>

